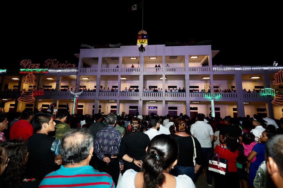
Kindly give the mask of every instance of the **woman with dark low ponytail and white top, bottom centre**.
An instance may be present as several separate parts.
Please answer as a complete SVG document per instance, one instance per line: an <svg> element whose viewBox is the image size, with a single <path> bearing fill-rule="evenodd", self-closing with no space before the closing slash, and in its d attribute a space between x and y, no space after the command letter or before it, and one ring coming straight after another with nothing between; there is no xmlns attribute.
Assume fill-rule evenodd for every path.
<svg viewBox="0 0 283 188"><path fill-rule="evenodd" d="M187 175L175 177L169 174L177 164L178 144L170 135L155 136L146 149L143 171L127 170L118 182L117 188L157 188L157 187L193 187L192 179Z"/></svg>

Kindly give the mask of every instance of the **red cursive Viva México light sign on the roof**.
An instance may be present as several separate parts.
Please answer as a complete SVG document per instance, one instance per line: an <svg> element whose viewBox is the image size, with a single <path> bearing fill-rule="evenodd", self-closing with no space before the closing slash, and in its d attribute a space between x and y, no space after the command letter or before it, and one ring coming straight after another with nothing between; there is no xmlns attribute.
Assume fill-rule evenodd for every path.
<svg viewBox="0 0 283 188"><path fill-rule="evenodd" d="M40 68L40 64L33 64L31 60L22 60L20 65L23 66L23 69L39 69ZM67 61L65 63L60 63L59 61L57 61L56 59L54 60L46 60L44 65L44 67L48 68L48 69L73 69L75 68L75 64L70 64Z"/></svg>

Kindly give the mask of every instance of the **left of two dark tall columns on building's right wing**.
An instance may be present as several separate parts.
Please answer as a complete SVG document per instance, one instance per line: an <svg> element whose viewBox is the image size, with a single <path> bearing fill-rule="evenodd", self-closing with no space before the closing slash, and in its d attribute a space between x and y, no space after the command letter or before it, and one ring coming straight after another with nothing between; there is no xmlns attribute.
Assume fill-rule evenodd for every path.
<svg viewBox="0 0 283 188"><path fill-rule="evenodd" d="M237 93L237 115L238 117L245 117L245 106L243 99L243 86L242 86L242 74L240 71L236 71L235 75L236 93Z"/></svg>

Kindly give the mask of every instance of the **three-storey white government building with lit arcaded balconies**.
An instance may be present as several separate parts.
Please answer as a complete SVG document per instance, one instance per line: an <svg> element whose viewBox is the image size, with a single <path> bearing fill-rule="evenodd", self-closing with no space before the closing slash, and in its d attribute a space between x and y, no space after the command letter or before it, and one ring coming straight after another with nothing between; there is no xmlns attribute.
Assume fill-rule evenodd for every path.
<svg viewBox="0 0 283 188"><path fill-rule="evenodd" d="M153 112L163 116L168 113L171 115L182 113L188 116L204 113L209 116L210 97L215 96L215 116L252 117L253 114L260 114L281 118L283 106L272 104L274 97L262 96L259 91L272 88L279 89L282 93L282 84L273 85L272 82L274 74L283 70L283 67L213 66L213 57L218 52L211 50L211 45L148 45L145 46L144 52L139 52L138 46L81 49L80 54L76 54L79 58L78 67L53 68L49 69L48 73L34 73L33 87L45 89L43 96L34 97L35 101L31 103L8 101L14 93L11 95L10 91L5 90L20 88L17 92L21 92L26 76L23 74L3 73L0 98L2 101L8 99L4 106L6 112L40 107L45 111L50 103L57 103L57 108L65 108L68 104L72 112L73 95L68 88L78 84L84 85L86 90L89 89L83 91L78 98L77 113L82 114L97 112L121 114L123 111L132 114L138 109L140 114L145 115ZM254 64L259 63L269 64L269 62L254 62ZM155 67L156 65L160 67ZM96 88L105 88L105 92ZM116 88L117 92L107 92L108 88L110 90ZM125 88L128 90L134 88L134 92L123 92ZM160 89L159 92L144 92L143 88ZM185 88L185 92L165 92L165 89L168 91L173 88L175 90ZM209 88L211 93L207 93ZM214 89L235 91L212 94ZM243 89L247 91L255 89L257 92L246 93Z"/></svg>

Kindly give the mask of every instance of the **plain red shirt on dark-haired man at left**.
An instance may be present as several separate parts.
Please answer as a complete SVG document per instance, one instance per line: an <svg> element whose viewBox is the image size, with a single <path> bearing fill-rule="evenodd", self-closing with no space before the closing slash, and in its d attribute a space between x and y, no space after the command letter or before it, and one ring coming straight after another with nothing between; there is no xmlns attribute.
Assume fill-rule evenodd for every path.
<svg viewBox="0 0 283 188"><path fill-rule="evenodd" d="M24 139L27 140L33 135L33 127L26 120L16 121L10 130L10 139Z"/></svg>

